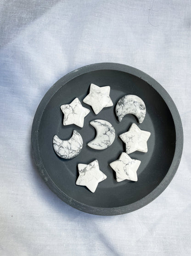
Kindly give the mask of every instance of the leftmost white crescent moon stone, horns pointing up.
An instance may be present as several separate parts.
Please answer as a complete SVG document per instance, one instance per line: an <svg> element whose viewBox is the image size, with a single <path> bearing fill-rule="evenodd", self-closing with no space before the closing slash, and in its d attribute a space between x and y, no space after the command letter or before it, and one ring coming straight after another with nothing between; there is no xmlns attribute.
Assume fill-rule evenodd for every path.
<svg viewBox="0 0 191 256"><path fill-rule="evenodd" d="M83 147L83 139L76 130L73 130L73 135L69 140L61 140L57 135L55 135L52 143L56 155L63 159L74 158L79 155Z"/></svg>

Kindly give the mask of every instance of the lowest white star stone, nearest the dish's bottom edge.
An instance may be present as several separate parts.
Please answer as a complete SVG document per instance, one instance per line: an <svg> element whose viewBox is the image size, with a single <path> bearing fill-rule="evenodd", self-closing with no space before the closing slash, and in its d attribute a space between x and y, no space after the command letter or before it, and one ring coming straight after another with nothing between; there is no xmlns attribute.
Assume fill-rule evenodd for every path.
<svg viewBox="0 0 191 256"><path fill-rule="evenodd" d="M88 165L78 164L78 169L79 177L76 185L86 186L92 193L96 191L99 182L107 179L107 176L101 172L97 160Z"/></svg>

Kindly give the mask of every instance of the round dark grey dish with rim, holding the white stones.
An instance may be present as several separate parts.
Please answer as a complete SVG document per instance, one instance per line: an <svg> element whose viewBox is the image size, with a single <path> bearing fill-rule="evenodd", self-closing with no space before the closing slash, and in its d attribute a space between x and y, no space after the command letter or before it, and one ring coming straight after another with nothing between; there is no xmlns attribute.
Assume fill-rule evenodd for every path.
<svg viewBox="0 0 191 256"><path fill-rule="evenodd" d="M90 83L111 87L113 107L104 108L96 115L89 105L82 102L89 92ZM118 122L115 106L127 94L137 95L145 102L146 117L142 124L130 114ZM62 125L60 106L70 103L75 97L90 109L83 128ZM107 149L94 150L87 146L96 134L89 124L94 119L105 119L115 128L116 138ZM117 160L125 151L125 145L118 136L127 131L132 123L151 132L147 142L148 152L129 154L131 158L141 161L137 182L117 182L109 163ZM83 149L71 160L61 159L53 150L52 138L57 135L67 140L74 129L83 138ZM127 65L97 63L70 72L49 89L35 113L31 142L39 174L64 202L90 214L117 215L135 211L152 202L169 185L180 163L183 130L173 100L152 77ZM86 187L75 185L75 182L79 175L78 163L89 164L95 159L99 161L100 169L107 179L99 183L95 193L91 193Z"/></svg>

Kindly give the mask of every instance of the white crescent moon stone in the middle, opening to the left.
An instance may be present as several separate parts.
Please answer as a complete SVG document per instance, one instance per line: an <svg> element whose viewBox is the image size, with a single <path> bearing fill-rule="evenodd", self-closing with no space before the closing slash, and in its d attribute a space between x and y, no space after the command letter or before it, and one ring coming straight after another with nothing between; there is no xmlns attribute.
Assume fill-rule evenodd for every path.
<svg viewBox="0 0 191 256"><path fill-rule="evenodd" d="M115 139L115 129L106 120L96 119L90 122L96 129L96 137L88 143L92 149L107 149Z"/></svg>

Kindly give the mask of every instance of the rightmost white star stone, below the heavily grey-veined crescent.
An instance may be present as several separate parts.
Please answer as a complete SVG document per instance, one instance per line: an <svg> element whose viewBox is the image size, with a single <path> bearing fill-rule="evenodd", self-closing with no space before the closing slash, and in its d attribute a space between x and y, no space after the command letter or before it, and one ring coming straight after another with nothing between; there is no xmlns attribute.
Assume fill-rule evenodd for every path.
<svg viewBox="0 0 191 256"><path fill-rule="evenodd" d="M140 128L132 124L129 131L119 135L120 139L126 144L126 153L140 151L147 152L147 140L150 137L151 132L140 130Z"/></svg>

